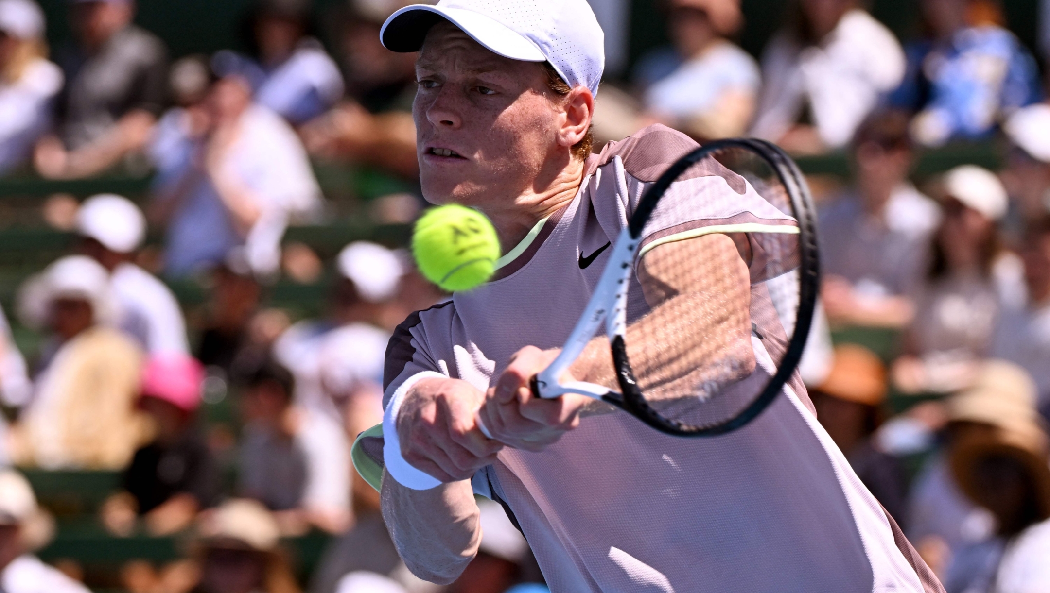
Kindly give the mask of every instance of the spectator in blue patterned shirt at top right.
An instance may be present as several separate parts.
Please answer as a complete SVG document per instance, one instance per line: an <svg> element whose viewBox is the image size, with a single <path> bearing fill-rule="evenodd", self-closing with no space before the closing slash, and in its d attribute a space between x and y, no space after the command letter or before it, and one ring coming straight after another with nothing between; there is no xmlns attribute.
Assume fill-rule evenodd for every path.
<svg viewBox="0 0 1050 593"><path fill-rule="evenodd" d="M908 46L907 75L889 98L916 113L919 143L987 136L1010 112L1040 100L1035 61L1004 27L998 0L921 4L929 39Z"/></svg>

